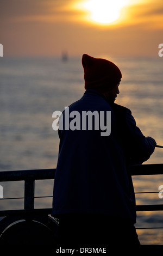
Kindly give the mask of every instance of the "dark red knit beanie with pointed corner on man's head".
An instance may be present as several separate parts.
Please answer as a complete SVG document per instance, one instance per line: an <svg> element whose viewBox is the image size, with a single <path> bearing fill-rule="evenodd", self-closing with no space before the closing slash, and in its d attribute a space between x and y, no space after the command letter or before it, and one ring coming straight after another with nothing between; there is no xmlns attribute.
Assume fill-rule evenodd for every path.
<svg viewBox="0 0 163 256"><path fill-rule="evenodd" d="M120 69L109 60L93 58L83 54L82 65L85 89L95 89L104 93L112 90L121 81Z"/></svg>

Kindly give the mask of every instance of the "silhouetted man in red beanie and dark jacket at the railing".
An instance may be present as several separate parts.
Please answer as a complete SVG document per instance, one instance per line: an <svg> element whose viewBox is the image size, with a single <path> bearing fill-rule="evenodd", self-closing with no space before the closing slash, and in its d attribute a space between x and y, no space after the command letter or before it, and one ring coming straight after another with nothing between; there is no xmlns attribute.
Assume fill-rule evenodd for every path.
<svg viewBox="0 0 163 256"><path fill-rule="evenodd" d="M52 215L59 218L60 245L136 247L140 243L128 167L148 160L156 143L142 135L129 109L114 103L120 93L120 69L87 54L82 64L86 92L65 109L59 128ZM85 113L91 125L90 119L83 120Z"/></svg>

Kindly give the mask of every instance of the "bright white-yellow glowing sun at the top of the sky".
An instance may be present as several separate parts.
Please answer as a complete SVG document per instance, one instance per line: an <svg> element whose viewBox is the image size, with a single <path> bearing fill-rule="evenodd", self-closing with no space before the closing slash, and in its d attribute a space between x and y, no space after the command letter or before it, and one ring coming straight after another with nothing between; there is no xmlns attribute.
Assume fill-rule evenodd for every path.
<svg viewBox="0 0 163 256"><path fill-rule="evenodd" d="M128 0L89 0L83 7L90 11L90 19L103 24L116 21L121 16L121 9Z"/></svg>

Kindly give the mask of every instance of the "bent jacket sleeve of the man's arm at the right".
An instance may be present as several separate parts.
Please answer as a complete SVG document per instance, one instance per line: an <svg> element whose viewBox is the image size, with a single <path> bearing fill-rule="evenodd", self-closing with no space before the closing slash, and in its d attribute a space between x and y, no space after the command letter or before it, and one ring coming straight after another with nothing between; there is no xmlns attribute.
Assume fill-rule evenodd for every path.
<svg viewBox="0 0 163 256"><path fill-rule="evenodd" d="M126 112L127 147L130 164L141 164L149 159L155 149L156 142L151 137L145 137L128 109Z"/></svg>

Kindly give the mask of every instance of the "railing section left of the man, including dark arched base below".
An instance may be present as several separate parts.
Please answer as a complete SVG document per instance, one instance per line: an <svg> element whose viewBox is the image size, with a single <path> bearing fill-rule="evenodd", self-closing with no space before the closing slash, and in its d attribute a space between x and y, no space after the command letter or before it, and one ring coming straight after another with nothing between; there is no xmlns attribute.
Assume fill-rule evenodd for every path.
<svg viewBox="0 0 163 256"><path fill-rule="evenodd" d="M0 172L0 182L24 181L24 209L0 211L0 246L57 245L58 221L52 209L34 209L35 180L54 179L55 169ZM20 199L1 198L1 200Z"/></svg>

